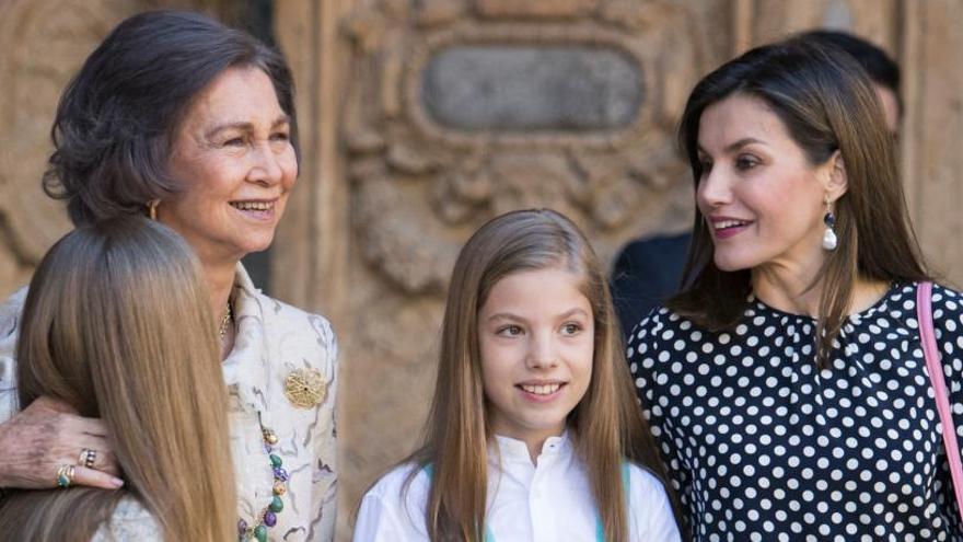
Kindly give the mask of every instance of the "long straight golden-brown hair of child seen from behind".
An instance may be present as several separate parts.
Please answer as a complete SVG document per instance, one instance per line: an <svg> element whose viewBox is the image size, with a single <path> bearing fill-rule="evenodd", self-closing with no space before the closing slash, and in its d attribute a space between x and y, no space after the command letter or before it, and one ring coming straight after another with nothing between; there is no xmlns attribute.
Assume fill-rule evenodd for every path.
<svg viewBox="0 0 963 542"><path fill-rule="evenodd" d="M31 281L16 356L20 404L46 395L102 418L127 483L12 492L0 508L4 537L85 542L124 496L166 540L236 537L210 297L176 233L129 217L67 234Z"/></svg>

